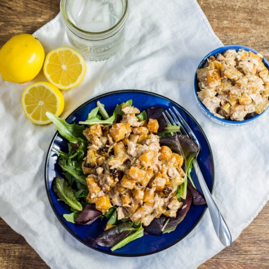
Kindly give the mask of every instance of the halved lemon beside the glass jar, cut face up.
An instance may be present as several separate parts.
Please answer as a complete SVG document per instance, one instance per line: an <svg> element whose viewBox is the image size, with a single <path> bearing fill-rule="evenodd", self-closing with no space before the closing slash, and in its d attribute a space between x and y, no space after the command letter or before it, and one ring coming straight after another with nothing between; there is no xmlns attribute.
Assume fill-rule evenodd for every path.
<svg viewBox="0 0 269 269"><path fill-rule="evenodd" d="M69 90L82 81L86 72L83 57L68 46L51 50L44 63L46 79L58 89Z"/></svg>

